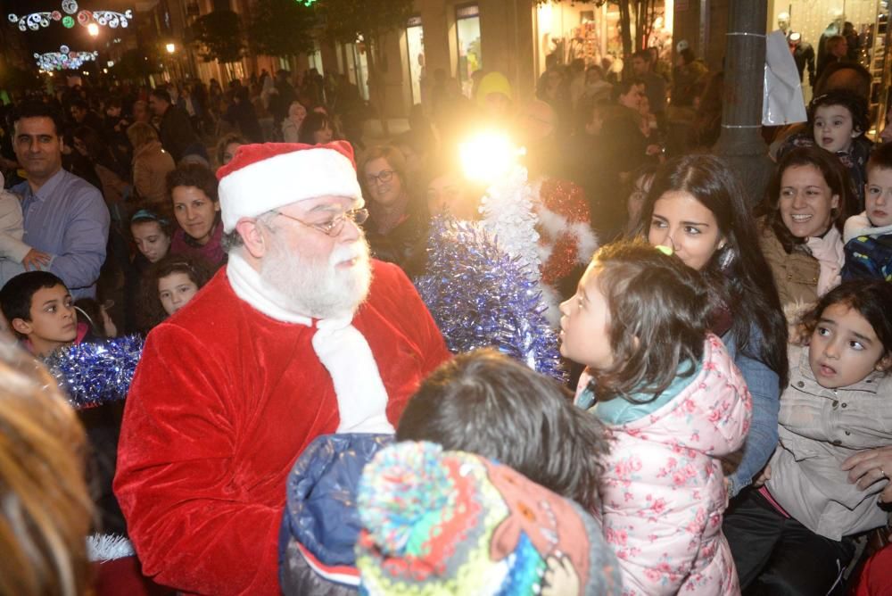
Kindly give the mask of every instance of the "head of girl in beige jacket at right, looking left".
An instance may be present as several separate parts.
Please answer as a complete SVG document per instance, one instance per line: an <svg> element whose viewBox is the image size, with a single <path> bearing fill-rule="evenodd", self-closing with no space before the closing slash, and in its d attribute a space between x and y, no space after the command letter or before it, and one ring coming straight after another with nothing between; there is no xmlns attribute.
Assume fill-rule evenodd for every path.
<svg viewBox="0 0 892 596"><path fill-rule="evenodd" d="M892 285L883 280L846 282L824 294L805 315L808 364L828 389L863 381L892 364Z"/></svg>

